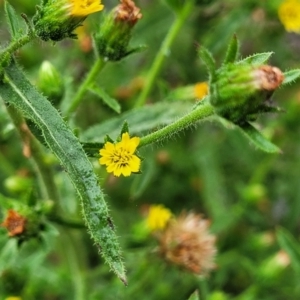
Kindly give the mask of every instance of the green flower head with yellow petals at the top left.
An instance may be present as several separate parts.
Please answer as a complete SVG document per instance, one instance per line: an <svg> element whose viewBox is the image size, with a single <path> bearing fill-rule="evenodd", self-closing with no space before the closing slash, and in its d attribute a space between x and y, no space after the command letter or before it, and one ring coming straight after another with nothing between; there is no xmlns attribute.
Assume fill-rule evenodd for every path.
<svg viewBox="0 0 300 300"><path fill-rule="evenodd" d="M102 9L99 0L43 0L33 17L36 35L44 41L76 38L74 29Z"/></svg>

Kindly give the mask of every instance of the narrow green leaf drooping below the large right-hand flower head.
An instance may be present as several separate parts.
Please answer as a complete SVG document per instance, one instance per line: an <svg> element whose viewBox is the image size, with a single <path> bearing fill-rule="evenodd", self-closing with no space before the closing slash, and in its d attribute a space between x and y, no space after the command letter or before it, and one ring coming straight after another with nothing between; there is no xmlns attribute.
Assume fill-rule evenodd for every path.
<svg viewBox="0 0 300 300"><path fill-rule="evenodd" d="M257 148L268 153L281 153L281 150L267 140L256 128L247 123L240 125L239 128L245 134L245 136L252 142Z"/></svg>

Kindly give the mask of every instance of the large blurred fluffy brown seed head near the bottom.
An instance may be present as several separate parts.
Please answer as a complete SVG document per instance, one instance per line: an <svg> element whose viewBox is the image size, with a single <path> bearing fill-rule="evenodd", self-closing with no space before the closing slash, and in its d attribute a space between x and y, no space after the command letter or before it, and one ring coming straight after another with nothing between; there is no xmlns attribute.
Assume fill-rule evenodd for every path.
<svg viewBox="0 0 300 300"><path fill-rule="evenodd" d="M160 235L164 258L197 275L215 268L216 237L208 233L210 222L195 213L181 214Z"/></svg>

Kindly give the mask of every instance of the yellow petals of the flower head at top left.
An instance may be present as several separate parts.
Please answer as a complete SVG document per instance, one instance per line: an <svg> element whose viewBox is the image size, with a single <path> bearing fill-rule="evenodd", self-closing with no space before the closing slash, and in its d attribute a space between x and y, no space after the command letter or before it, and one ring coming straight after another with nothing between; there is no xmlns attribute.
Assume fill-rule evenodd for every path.
<svg viewBox="0 0 300 300"><path fill-rule="evenodd" d="M99 0L70 0L72 4L71 15L85 17L104 8Z"/></svg>

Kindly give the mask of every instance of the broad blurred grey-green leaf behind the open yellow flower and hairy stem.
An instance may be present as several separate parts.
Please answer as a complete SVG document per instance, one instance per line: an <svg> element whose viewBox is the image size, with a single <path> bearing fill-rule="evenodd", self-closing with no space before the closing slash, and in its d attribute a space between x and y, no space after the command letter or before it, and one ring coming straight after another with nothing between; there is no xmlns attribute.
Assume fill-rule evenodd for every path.
<svg viewBox="0 0 300 300"><path fill-rule="evenodd" d="M130 135L138 135L174 121L189 110L189 102L160 102L157 104L144 106L130 110L115 118L105 121L99 125L90 127L85 131L81 139L84 142L102 142L109 134L115 140L120 134L125 121L128 122Z"/></svg>

